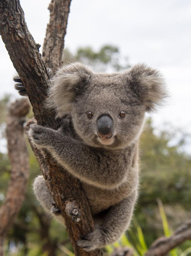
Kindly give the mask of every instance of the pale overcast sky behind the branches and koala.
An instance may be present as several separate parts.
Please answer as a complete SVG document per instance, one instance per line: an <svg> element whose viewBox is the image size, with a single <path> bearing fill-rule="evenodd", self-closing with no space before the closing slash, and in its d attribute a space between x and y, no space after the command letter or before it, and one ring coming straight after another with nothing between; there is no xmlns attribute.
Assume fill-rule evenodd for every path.
<svg viewBox="0 0 191 256"><path fill-rule="evenodd" d="M50 0L20 0L29 31L43 45ZM156 128L191 133L191 1L72 0L65 47L118 46L131 65L144 62L164 75L170 99L153 114ZM42 50L40 48L40 50ZM0 97L14 91L16 74L0 39ZM191 151L190 151L191 152Z"/></svg>

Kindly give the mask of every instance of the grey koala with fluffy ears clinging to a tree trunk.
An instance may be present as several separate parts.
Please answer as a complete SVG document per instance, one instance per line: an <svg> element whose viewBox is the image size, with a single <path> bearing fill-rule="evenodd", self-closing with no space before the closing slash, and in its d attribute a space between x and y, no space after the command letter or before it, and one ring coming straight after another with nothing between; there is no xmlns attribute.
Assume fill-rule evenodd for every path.
<svg viewBox="0 0 191 256"><path fill-rule="evenodd" d="M17 81L19 81L17 79ZM22 95L26 91L17 85ZM58 69L46 102L62 118L60 129L31 125L37 147L47 149L86 193L95 231L78 240L86 251L118 240L130 224L138 196L139 138L145 112L164 102L166 84L145 64L114 74L94 73L81 63ZM42 176L33 184L37 199L59 219L60 210Z"/></svg>

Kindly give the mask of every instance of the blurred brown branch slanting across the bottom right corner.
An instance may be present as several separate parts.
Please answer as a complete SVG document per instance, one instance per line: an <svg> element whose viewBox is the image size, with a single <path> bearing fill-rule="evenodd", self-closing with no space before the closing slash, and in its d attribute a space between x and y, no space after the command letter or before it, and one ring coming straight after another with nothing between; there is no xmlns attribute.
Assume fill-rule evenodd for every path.
<svg viewBox="0 0 191 256"><path fill-rule="evenodd" d="M171 237L157 239L145 253L145 256L166 255L170 250L188 239L191 239L191 220L180 226Z"/></svg>

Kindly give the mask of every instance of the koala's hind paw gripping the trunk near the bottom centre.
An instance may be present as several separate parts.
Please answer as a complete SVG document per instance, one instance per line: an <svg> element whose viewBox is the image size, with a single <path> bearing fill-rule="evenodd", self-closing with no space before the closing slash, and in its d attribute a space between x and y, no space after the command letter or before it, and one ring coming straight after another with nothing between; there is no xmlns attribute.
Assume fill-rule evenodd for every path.
<svg viewBox="0 0 191 256"><path fill-rule="evenodd" d="M100 226L96 225L95 230L90 234L82 236L82 239L78 240L77 244L86 252L103 247L105 246L105 239L102 233Z"/></svg>

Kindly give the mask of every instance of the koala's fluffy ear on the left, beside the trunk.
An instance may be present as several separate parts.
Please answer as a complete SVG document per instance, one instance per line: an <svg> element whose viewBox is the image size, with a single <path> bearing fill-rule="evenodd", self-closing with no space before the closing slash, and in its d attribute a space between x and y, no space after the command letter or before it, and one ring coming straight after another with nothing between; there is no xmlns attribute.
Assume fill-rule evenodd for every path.
<svg viewBox="0 0 191 256"><path fill-rule="evenodd" d="M55 108L57 117L69 114L72 102L83 92L91 74L92 71L79 62L58 69L51 79L46 106Z"/></svg>

